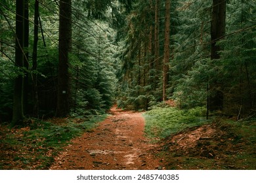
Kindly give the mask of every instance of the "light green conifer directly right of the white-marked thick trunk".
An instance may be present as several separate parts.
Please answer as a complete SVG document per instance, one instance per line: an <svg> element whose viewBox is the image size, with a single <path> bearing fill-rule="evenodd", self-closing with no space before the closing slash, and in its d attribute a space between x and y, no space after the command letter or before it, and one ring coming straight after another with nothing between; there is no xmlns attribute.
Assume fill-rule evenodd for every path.
<svg viewBox="0 0 256 183"><path fill-rule="evenodd" d="M74 3L74 21L77 24L74 24L71 56L72 114L97 114L110 109L114 100L113 56L116 33L102 21L110 18L104 12L101 12L100 20L92 20L93 14L90 13L88 17L88 9L80 3ZM83 24L87 27L86 32L81 27Z"/></svg>

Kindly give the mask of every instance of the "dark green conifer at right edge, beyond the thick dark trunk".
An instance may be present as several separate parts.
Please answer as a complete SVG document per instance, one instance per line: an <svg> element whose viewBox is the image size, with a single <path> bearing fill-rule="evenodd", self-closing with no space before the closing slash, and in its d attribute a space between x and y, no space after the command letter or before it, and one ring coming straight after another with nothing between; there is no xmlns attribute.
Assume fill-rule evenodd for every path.
<svg viewBox="0 0 256 183"><path fill-rule="evenodd" d="M229 1L226 38L219 42L223 50L219 65L223 67L224 112L237 119L255 108L255 17L254 1Z"/></svg>

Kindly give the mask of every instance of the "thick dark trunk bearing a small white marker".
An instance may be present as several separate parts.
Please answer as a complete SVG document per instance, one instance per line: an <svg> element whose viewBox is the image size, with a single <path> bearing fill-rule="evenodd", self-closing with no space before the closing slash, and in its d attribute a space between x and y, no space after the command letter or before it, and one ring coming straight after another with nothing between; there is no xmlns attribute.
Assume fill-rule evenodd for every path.
<svg viewBox="0 0 256 183"><path fill-rule="evenodd" d="M58 47L58 94L56 116L64 117L70 112L70 77L68 73L68 54L72 41L71 0L60 0Z"/></svg>

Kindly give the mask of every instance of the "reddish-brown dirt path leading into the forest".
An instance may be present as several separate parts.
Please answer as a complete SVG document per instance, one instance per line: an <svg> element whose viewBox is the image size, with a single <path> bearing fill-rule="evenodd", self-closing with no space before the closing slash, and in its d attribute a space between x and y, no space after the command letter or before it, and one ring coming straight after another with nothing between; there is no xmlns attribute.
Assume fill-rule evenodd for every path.
<svg viewBox="0 0 256 183"><path fill-rule="evenodd" d="M50 169L161 169L156 144L144 137L139 112L112 108L92 132L84 133L64 148Z"/></svg>

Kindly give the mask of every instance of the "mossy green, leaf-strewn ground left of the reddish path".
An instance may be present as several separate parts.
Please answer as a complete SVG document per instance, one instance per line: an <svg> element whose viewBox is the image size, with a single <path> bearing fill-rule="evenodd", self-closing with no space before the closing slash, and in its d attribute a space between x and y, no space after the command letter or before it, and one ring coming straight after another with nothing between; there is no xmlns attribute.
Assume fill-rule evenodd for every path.
<svg viewBox="0 0 256 183"><path fill-rule="evenodd" d="M1 125L0 169L48 169L63 146L104 118L106 115L90 120L57 119L56 123L32 120L20 129Z"/></svg>

